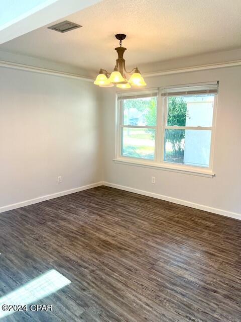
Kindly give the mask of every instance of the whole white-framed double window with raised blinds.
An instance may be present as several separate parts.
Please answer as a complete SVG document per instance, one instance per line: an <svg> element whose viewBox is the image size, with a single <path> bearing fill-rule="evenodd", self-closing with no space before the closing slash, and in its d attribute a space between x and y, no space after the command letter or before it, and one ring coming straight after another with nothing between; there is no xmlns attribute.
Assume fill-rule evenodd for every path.
<svg viewBox="0 0 241 322"><path fill-rule="evenodd" d="M118 97L116 159L208 173L218 83Z"/></svg>

